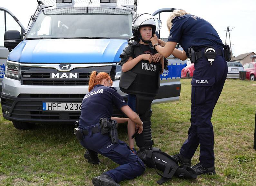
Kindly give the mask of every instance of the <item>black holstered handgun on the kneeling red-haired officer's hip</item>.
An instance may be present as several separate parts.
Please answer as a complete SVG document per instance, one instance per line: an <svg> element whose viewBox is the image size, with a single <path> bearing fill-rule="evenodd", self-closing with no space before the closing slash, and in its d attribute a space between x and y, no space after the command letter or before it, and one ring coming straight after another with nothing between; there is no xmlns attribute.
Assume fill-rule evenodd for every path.
<svg viewBox="0 0 256 186"><path fill-rule="evenodd" d="M106 134L109 132L109 136L113 144L119 142L117 127L118 123L116 123L114 120L108 120L107 118L100 119L101 134Z"/></svg>

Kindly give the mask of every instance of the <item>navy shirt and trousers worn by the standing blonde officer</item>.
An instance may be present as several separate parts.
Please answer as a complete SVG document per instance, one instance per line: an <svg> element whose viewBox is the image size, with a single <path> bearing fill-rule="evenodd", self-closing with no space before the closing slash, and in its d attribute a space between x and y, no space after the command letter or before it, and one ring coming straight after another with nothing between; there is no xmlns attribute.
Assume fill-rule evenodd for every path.
<svg viewBox="0 0 256 186"><path fill-rule="evenodd" d="M178 42L187 56L189 47L201 53L201 57L194 63L191 81L191 126L180 154L191 159L200 144L200 164L204 168L212 167L214 136L211 118L227 77L224 45L209 22L191 14L174 18L168 41ZM212 64L204 57L207 46L213 46L217 52Z"/></svg>

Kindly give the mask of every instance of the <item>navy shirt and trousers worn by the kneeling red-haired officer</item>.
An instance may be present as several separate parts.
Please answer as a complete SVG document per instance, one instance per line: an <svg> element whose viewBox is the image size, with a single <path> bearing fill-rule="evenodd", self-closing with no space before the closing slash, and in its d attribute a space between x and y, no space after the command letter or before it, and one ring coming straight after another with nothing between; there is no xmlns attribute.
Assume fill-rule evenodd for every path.
<svg viewBox="0 0 256 186"><path fill-rule="evenodd" d="M100 133L100 119L111 119L113 105L120 109L127 103L115 88L103 85L94 86L83 98L79 128L82 131L88 131L88 134L84 135L80 141L84 148L108 157L120 165L106 172L118 183L141 175L145 170L145 165L137 155L132 153L125 142L119 140L117 144L113 144L108 133L103 135ZM95 128L97 130L94 130Z"/></svg>

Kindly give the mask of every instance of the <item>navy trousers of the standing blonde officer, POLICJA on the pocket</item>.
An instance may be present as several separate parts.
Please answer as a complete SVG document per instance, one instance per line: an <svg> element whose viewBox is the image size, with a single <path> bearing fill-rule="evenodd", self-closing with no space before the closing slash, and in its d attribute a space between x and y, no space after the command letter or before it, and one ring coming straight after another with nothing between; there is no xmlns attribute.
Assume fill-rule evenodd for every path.
<svg viewBox="0 0 256 186"><path fill-rule="evenodd" d="M214 165L211 118L227 77L227 62L217 55L211 65L203 57L194 63L194 67L191 81L191 126L180 153L186 158L192 158L200 144L199 160L207 168Z"/></svg>

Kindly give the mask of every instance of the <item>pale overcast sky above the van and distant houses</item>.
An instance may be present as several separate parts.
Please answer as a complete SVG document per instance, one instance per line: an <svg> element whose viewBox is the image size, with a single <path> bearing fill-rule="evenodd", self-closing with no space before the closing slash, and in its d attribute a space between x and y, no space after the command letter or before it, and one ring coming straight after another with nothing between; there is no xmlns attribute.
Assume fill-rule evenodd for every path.
<svg viewBox="0 0 256 186"><path fill-rule="evenodd" d="M137 13L154 13L161 8L184 9L210 22L225 44L227 26L230 31L232 53L237 56L256 53L256 0L137 0ZM0 0L0 6L10 10L27 27L30 16L37 7L36 0ZM161 37L168 37L166 19L161 15ZM232 29L233 28L233 29ZM229 38L227 38L229 44Z"/></svg>

